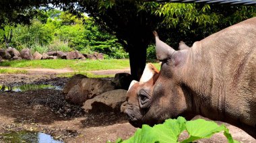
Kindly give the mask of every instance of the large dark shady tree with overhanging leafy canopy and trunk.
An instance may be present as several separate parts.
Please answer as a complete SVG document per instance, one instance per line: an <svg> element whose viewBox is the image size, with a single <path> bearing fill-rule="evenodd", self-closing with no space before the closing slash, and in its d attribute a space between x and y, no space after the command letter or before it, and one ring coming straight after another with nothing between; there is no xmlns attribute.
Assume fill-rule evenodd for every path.
<svg viewBox="0 0 256 143"><path fill-rule="evenodd" d="M49 3L78 17L86 12L100 28L115 34L129 52L131 75L136 80L146 64L146 48L153 40L153 30L158 29L160 36L170 44L177 45L179 40L192 43L220 28L255 16L255 7L230 5L159 4L142 0L9 0L0 3L0 23L19 23L12 17L20 13L21 17L29 19L35 7L49 7Z"/></svg>

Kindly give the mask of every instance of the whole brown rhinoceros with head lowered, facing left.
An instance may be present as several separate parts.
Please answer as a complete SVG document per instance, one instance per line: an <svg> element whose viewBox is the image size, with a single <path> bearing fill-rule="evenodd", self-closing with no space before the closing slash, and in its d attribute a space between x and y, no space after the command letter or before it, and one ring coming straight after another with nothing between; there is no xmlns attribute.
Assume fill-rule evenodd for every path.
<svg viewBox="0 0 256 143"><path fill-rule="evenodd" d="M156 37L160 72L146 66L127 91L125 113L135 127L202 115L256 138L256 17L174 50Z"/></svg>

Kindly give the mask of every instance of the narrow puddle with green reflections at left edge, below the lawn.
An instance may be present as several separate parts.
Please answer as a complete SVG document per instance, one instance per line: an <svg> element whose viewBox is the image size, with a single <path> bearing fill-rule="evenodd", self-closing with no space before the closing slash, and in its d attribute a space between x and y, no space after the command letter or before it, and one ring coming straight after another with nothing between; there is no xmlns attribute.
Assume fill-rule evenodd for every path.
<svg viewBox="0 0 256 143"><path fill-rule="evenodd" d="M57 89L62 90L59 86L53 86L53 85L20 85L20 86L6 86L6 85L0 85L1 91L14 91L14 92L20 92L20 91L30 91L30 90L36 90L36 89Z"/></svg>

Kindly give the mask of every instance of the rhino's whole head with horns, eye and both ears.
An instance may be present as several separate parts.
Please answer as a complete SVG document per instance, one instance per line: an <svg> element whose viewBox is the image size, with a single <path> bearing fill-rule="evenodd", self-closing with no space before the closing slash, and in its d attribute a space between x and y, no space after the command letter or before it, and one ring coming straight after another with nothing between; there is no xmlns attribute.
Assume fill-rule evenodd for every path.
<svg viewBox="0 0 256 143"><path fill-rule="evenodd" d="M156 32L156 50L158 59L164 58L164 54L167 56L172 52L172 48L160 41ZM159 48L163 48L159 51ZM179 50L185 52L189 50L184 42L179 44ZM162 52L162 54L161 54ZM168 64L170 64L168 62ZM166 66L166 61L162 60L162 68ZM172 71L160 71L160 73L170 73ZM183 90L178 84L179 79L170 76L169 84L162 84L169 81L159 78L159 71L153 64L147 64L143 71L143 75L139 82L133 81L127 91L127 106L125 113L129 117L129 122L135 127L141 127L142 124L154 125L163 122L167 118L176 117L183 113L187 109ZM169 75L168 75L169 76ZM166 86L170 87L166 87ZM172 89L172 95L167 95L167 91L163 89ZM154 90L154 94L153 94ZM170 92L168 91L168 94Z"/></svg>

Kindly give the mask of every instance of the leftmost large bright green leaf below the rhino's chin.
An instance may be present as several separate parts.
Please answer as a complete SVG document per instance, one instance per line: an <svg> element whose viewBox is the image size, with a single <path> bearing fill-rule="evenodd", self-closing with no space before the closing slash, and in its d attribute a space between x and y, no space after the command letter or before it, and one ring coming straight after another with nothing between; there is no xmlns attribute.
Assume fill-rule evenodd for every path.
<svg viewBox="0 0 256 143"><path fill-rule="evenodd" d="M177 120L166 120L164 124L154 127L143 125L133 137L123 142L178 142L179 134L185 130L186 122L184 117L178 117Z"/></svg>

